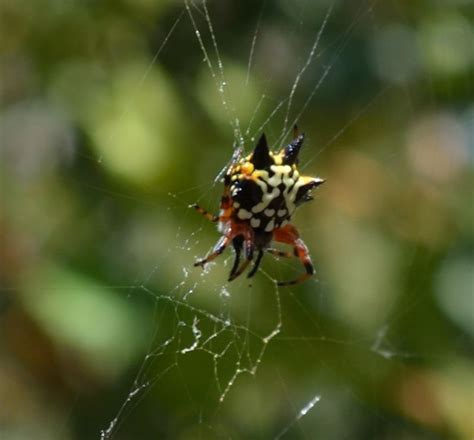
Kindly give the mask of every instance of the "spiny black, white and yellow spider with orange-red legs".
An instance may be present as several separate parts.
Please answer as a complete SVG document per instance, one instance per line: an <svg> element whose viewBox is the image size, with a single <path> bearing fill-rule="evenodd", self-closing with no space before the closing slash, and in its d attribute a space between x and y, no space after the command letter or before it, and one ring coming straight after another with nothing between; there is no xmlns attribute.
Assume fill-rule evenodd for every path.
<svg viewBox="0 0 474 440"><path fill-rule="evenodd" d="M306 270L295 280L278 282L279 286L298 284L313 275L308 248L289 223L296 208L312 200L311 190L324 182L319 177L301 176L298 172L298 154L303 140L304 134L298 135L295 126L294 140L286 148L271 152L262 134L254 151L227 169L219 215L192 205L208 220L217 222L222 234L213 251L194 266L204 266L214 260L232 243L235 261L229 281L245 271L255 251L257 257L248 278L257 272L264 251L280 257L298 257ZM272 241L293 246L293 253L270 248ZM239 267L242 250L245 261Z"/></svg>

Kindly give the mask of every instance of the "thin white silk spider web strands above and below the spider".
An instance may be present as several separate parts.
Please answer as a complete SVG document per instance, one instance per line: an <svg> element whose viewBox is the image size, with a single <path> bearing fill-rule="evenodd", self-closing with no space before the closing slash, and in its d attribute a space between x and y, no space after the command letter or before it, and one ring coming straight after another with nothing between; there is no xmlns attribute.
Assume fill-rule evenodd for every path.
<svg viewBox="0 0 474 440"><path fill-rule="evenodd" d="M306 54L302 55L303 59L301 56L295 59L295 64L299 67L289 92L282 99L277 99L273 109L270 109L267 114L262 111L263 104L266 100L274 101L274 99L263 93L255 106L254 112L248 119L247 127L242 127L238 110L233 104L225 65L220 54L212 16L206 1L184 1L184 16L183 14L179 15L173 24L163 45L153 58L149 69L157 61L163 46L172 38L172 32L178 23L186 19L189 20L199 49L202 52L203 62L215 83L220 104L233 133L234 153L231 160L234 161L243 154L245 148L252 145L256 136L265 129L280 126L280 133L274 141L275 146L282 145L288 139L293 125L298 123L318 90L324 85L331 69L348 41L350 41L352 32L357 28L360 20L370 16L374 5L375 2L362 3L360 8L356 10L355 17L349 22L345 32L339 35L332 44L322 48L321 40L335 7L335 3L329 3L325 11L322 11L313 41L310 47L306 48ZM265 3L262 4L251 40L246 85L249 82L254 63L255 46L260 36L259 26L264 7ZM326 56L328 54L329 56ZM294 99L300 82L308 68L318 63L321 63L321 66L319 66L316 79L313 80L310 92L295 110ZM146 76L149 69L145 72L138 87L146 87ZM303 167L331 146L383 92L378 91L368 101L366 107L357 112L346 125L340 128L318 149L318 152L311 155ZM223 171L227 166L223 168ZM202 201L203 197L209 197L209 193L215 193L216 185L220 188L220 178L223 171L217 174L211 188L204 193L204 196L199 197L199 202ZM169 197L181 204L180 210L183 209L186 200L192 201L183 197L182 193L170 193ZM212 204L215 205L211 200ZM184 218L186 219L189 215L195 214L186 212ZM175 237L168 242L174 243L174 245L168 244L172 247L172 249L168 249L168 255L173 255L173 259L178 261L189 261L190 253L199 252L204 254L205 247L202 246L202 235L208 227L209 225L206 225L205 222L198 230L191 232L178 227ZM193 256L197 257L197 254ZM165 253L163 259L166 258ZM222 274L229 270L231 259L231 256L221 257L216 262L208 264L199 276L196 276L196 269L191 268L189 264L184 265L181 268L181 280L169 290L155 286L155 277L159 276L161 271L164 270L161 264L157 264L144 279L130 286L133 294L138 293L150 298L154 307L154 330L147 354L133 380L128 395L116 415L102 431L102 439L112 438L120 432L121 425L127 423L130 413L133 410L139 410L142 399L146 398L148 393L153 392L154 387L159 387L159 383L166 381L167 377L172 376L173 373L177 374L182 380L183 391L187 394L187 399L189 399L189 403L194 407L196 413L196 424L200 425L201 429L205 427L213 435L218 435L219 428L215 427L215 420L219 417L218 414L221 412L222 406L225 405L229 394L234 387L238 387L239 381L242 381L243 377L258 381L261 364L265 361L268 349L273 343L278 344L282 341L292 341L294 343L298 341L303 345L307 345L310 341L316 340L323 344L342 344L356 350L371 351L385 359L401 356L387 343L388 325L384 325L372 343L365 340L347 341L327 337L324 334L324 329L318 323L317 314L313 313L314 311L306 310L302 300L298 298L297 291L295 289L284 289L283 293L276 286L275 276L270 275L266 270L261 270L259 275L261 279L252 284L245 279L237 280L232 284L223 282ZM290 266L281 259L277 260L273 265ZM223 266L223 269L218 270L216 266ZM170 284L173 285L173 281ZM321 300L324 293L319 281L315 279L310 281L309 284L312 285L309 288L312 295L315 295L316 298L319 296ZM288 336L288 333L284 331L282 295L290 298L293 306L296 305L300 313L311 323L317 336ZM203 301L202 297L206 297L206 299ZM218 298L217 304L215 300L209 301L209 297ZM262 301L265 302L264 311L262 311L261 305L256 304ZM203 378L192 378L194 373L192 367L189 371L188 364L192 365L193 362L201 362L205 365L204 368L197 369L199 374L203 374L204 371L205 380L208 383L206 397L203 402L198 402L196 397L193 396L193 391L190 390L190 381L203 380ZM327 367L323 359L319 362L323 368ZM285 384L284 377L280 376L279 380L282 388L285 389L285 393L289 393L286 389L288 385ZM283 438L291 432L294 433L295 429L297 431L298 429L301 430L301 419L308 416L321 401L326 399L324 386L321 384L315 384L313 389L308 389L302 394L305 397L302 397L299 407L296 406L297 404L292 404L293 415L289 414L285 417L286 420L282 421L280 430L275 433L274 438ZM287 398L290 399L289 396ZM209 401L212 402L210 405Z"/></svg>

